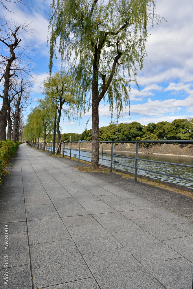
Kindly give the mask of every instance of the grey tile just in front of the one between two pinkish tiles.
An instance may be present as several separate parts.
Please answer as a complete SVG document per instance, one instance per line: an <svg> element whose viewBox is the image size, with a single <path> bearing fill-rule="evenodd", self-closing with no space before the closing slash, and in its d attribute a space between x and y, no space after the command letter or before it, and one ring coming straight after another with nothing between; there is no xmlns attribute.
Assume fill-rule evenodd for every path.
<svg viewBox="0 0 193 289"><path fill-rule="evenodd" d="M181 257L177 252L143 229L113 233L113 236L145 266L147 264Z"/></svg>

